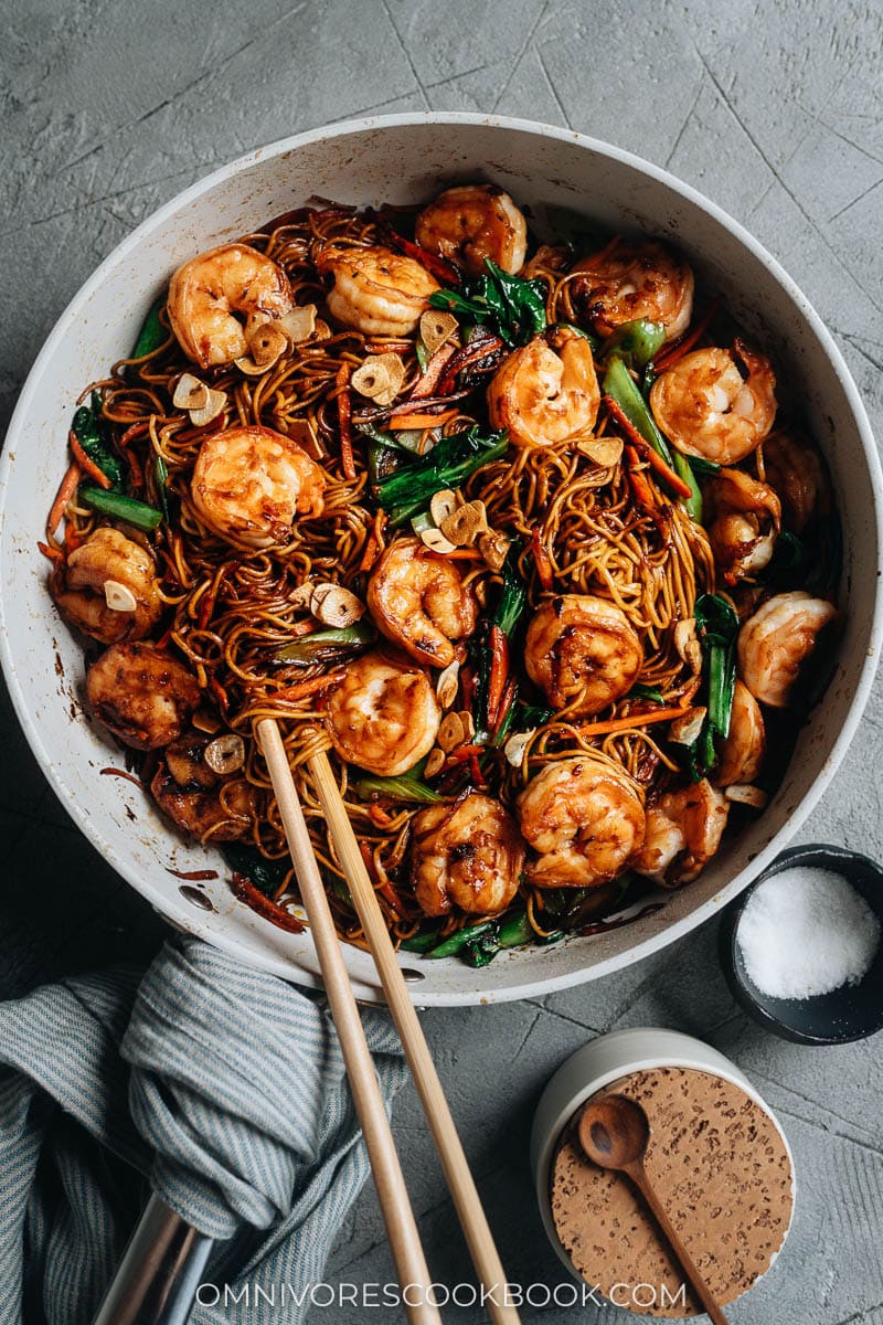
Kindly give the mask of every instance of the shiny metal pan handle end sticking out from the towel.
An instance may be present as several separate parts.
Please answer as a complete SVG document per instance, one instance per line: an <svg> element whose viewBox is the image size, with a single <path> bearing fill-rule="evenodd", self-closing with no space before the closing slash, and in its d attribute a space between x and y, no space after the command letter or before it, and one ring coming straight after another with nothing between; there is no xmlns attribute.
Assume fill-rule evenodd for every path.
<svg viewBox="0 0 883 1325"><path fill-rule="evenodd" d="M185 1325L212 1246L152 1195L94 1325Z"/></svg>

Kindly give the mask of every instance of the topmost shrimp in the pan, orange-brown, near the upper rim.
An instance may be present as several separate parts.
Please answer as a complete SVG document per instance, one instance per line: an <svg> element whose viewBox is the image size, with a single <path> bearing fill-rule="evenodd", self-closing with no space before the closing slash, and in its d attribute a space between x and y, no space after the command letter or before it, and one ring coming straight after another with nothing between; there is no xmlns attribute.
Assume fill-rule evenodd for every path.
<svg viewBox="0 0 883 1325"><path fill-rule="evenodd" d="M527 221L495 184L447 188L417 217L414 236L421 248L465 268L485 272L485 258L504 272L520 272L527 257Z"/></svg>

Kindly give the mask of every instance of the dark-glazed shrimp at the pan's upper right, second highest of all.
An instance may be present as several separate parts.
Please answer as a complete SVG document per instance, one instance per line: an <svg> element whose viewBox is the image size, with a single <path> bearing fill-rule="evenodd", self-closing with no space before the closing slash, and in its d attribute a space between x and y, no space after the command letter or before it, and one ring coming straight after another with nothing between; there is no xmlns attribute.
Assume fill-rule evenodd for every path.
<svg viewBox="0 0 883 1325"><path fill-rule="evenodd" d="M605 250L608 252L608 250ZM692 270L658 240L618 244L572 268L573 297L601 335L624 322L661 322L666 339L682 335L692 315Z"/></svg>

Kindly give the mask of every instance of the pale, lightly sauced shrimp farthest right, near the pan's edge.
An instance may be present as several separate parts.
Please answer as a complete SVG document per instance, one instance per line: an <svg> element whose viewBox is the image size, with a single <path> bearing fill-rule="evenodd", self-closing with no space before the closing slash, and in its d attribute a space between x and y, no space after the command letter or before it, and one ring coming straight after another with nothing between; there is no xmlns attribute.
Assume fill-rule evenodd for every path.
<svg viewBox="0 0 883 1325"><path fill-rule="evenodd" d="M768 599L739 632L739 674L761 704L788 708L802 664L837 608L805 590Z"/></svg>

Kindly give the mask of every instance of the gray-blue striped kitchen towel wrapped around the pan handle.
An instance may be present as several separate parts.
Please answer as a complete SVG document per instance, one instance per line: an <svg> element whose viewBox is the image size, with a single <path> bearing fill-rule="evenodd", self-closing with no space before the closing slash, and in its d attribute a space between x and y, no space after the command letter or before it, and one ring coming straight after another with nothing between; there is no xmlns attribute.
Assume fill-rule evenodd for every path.
<svg viewBox="0 0 883 1325"><path fill-rule="evenodd" d="M389 1106L398 1037L363 1022ZM262 1325L279 1284L297 1322L367 1174L324 1000L197 939L0 1004L0 1325L93 1318L146 1178L218 1239L196 1325Z"/></svg>

